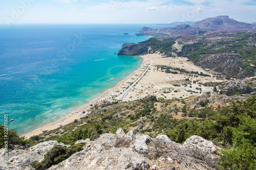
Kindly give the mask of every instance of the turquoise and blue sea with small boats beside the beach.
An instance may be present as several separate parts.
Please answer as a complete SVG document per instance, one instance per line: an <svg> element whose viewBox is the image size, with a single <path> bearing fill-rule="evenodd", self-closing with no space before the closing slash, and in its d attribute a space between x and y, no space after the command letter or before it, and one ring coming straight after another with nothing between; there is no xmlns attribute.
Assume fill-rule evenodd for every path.
<svg viewBox="0 0 256 170"><path fill-rule="evenodd" d="M0 124L19 135L67 115L138 69L142 58L117 56L139 42L141 25L0 26ZM122 33L129 33L124 35Z"/></svg>

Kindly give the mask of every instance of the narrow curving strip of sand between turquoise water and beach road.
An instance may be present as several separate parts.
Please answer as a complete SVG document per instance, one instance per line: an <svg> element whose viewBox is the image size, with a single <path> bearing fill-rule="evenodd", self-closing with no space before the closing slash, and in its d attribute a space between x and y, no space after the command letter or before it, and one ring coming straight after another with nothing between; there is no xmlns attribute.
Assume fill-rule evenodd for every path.
<svg viewBox="0 0 256 170"><path fill-rule="evenodd" d="M105 90L100 96L98 96L91 102L79 107L78 109L72 111L68 115L63 116L49 124L46 124L39 128L36 128L35 130L32 130L28 133L20 135L20 137L30 138L31 136L35 136L35 135L44 133L42 131L50 131L50 130L57 129L60 126L65 126L69 123L74 122L75 119L79 119L83 116L86 116L87 114L90 114L89 112L90 112L90 107L92 107L91 105L95 105L95 104L97 104L99 102L103 102L103 101L113 100L113 96L116 96L116 98L118 98L118 96L120 96L121 93L123 93L126 90L126 87L129 86L129 84L132 84L134 81L136 81L142 75L141 70L145 65L146 57L145 56L139 56L139 57L141 57L143 59L141 66L137 70L133 71L129 76L127 76L123 80L121 80L119 83L116 83L115 87ZM129 81L131 83L127 83L127 81ZM125 88L123 88L123 87L125 87ZM83 111L85 111L85 113L83 113Z"/></svg>

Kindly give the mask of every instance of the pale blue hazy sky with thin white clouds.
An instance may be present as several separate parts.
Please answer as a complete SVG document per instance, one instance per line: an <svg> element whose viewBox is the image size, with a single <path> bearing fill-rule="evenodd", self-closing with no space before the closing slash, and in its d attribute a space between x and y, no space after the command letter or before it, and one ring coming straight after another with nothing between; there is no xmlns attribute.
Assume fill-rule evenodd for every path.
<svg viewBox="0 0 256 170"><path fill-rule="evenodd" d="M171 23L228 15L256 22L256 0L0 0L0 24Z"/></svg>

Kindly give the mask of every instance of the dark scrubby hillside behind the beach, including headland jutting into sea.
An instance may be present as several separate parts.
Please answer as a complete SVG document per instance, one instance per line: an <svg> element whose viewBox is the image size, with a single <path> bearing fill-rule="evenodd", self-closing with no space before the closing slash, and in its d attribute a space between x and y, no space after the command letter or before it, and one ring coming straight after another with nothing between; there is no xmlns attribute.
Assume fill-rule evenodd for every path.
<svg viewBox="0 0 256 170"><path fill-rule="evenodd" d="M219 72L227 78L244 79L255 76L256 33L254 32L205 33L189 38L158 39L150 38L137 44L124 44L118 55L159 52L164 57L186 57L195 65Z"/></svg>

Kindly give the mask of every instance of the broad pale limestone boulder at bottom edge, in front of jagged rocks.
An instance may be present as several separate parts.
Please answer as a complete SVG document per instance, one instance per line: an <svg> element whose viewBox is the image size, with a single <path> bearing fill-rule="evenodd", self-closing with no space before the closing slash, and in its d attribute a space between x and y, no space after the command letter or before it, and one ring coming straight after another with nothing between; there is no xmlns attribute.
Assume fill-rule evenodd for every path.
<svg viewBox="0 0 256 170"><path fill-rule="evenodd" d="M142 155L127 148L81 151L49 168L49 170L80 169L149 169L150 164Z"/></svg>

